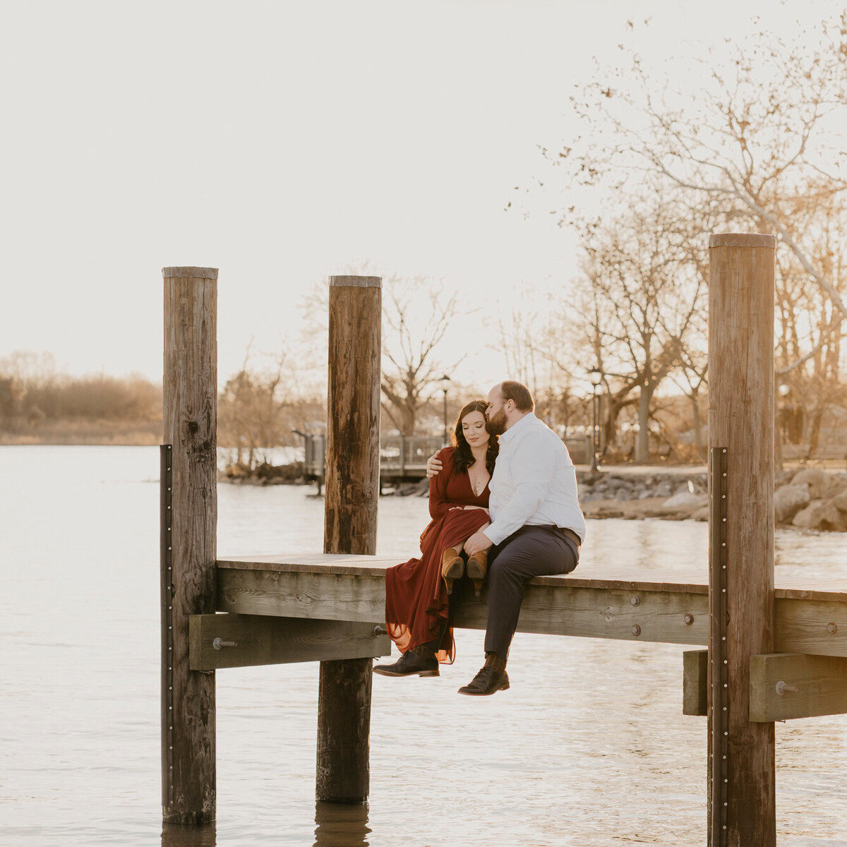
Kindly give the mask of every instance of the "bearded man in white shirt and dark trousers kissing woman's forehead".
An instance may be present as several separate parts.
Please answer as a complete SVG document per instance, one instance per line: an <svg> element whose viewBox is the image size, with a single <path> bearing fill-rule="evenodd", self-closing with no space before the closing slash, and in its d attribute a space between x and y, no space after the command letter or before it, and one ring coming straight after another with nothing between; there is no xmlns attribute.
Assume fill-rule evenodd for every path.
<svg viewBox="0 0 847 847"><path fill-rule="evenodd" d="M529 389L507 380L488 396L489 429L500 435L490 481L487 529L464 545L468 557L489 551L485 664L459 694L492 695L509 687L506 662L518 627L523 585L536 576L570 573L579 562L585 519L576 470L562 439L535 417ZM427 476L441 463L427 462Z"/></svg>

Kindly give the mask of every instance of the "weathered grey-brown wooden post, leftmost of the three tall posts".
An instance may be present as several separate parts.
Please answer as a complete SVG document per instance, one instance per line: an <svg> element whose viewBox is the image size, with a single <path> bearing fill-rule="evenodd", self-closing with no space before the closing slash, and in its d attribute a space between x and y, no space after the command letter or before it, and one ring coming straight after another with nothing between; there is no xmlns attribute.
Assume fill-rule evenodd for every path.
<svg viewBox="0 0 847 847"><path fill-rule="evenodd" d="M215 817L215 680L188 666L188 619L215 612L218 269L162 273L163 821L203 823Z"/></svg>

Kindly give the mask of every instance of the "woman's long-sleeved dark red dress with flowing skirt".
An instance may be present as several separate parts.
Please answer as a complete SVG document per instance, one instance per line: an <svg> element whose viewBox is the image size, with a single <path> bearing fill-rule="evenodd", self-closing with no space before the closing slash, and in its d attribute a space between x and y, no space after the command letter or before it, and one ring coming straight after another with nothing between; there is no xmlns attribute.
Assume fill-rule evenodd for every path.
<svg viewBox="0 0 847 847"><path fill-rule="evenodd" d="M409 559L385 571L385 622L388 634L401 650L437 639L444 623L449 624L447 588L441 579L441 558L448 547L468 540L488 523L483 509L457 509L457 506L488 508L488 484L482 494L473 494L468 472L458 473L453 463L455 447L445 447L438 457L443 465L429 483L429 514L432 521L421 535L421 558ZM453 630L448 625L439 662L450 664L455 655Z"/></svg>

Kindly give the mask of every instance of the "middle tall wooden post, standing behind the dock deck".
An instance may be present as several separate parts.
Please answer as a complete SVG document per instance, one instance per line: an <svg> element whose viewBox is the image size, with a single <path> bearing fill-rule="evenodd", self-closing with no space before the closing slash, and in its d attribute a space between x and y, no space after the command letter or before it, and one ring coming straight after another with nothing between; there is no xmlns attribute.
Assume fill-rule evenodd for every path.
<svg viewBox="0 0 847 847"><path fill-rule="evenodd" d="M379 277L330 277L325 553L376 552L381 304ZM320 664L318 800L368 798L371 667Z"/></svg>

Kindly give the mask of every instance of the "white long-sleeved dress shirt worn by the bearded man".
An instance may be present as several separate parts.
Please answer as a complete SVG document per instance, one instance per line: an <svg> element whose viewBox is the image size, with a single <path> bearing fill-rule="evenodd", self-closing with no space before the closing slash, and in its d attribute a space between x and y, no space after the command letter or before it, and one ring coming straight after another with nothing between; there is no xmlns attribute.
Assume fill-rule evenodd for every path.
<svg viewBox="0 0 847 847"><path fill-rule="evenodd" d="M489 490L491 525L484 534L493 544L526 525L573 529L584 540L576 468L562 439L533 412L500 436Z"/></svg>

